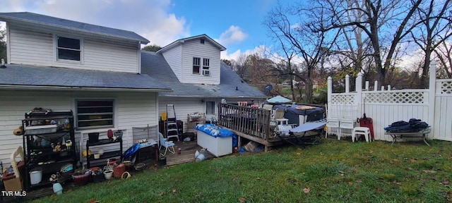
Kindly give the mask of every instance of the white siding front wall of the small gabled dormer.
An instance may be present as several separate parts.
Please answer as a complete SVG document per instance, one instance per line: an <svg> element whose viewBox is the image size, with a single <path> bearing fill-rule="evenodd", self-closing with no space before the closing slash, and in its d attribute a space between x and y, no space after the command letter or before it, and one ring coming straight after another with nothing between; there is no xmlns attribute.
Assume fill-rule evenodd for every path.
<svg viewBox="0 0 452 203"><path fill-rule="evenodd" d="M201 44L200 39L192 39L182 44L182 73L181 82L198 84L220 84L220 49L208 40ZM201 58L201 74L192 74L193 57ZM210 59L210 75L202 75L203 59ZM180 79L179 79L180 80Z"/></svg>

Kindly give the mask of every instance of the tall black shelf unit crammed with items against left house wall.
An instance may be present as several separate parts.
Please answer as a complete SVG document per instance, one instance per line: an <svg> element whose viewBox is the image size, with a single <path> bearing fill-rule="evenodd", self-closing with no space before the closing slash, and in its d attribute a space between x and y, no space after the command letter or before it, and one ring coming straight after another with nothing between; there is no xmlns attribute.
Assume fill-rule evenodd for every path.
<svg viewBox="0 0 452 203"><path fill-rule="evenodd" d="M27 128L47 128L50 124L57 123L52 126L56 130L41 131L27 130ZM59 124L58 124L59 123ZM44 124L44 125L42 125ZM31 111L25 113L25 119L22 120L25 133L23 134L23 146L25 154L25 174L23 176L23 185L25 190L33 190L39 187L52 185L49 178L52 174L61 172L61 168L68 164L72 165L71 171L60 173L63 178L60 182L71 179L73 168L76 168L78 156L76 152L76 140L73 129L73 112L72 111ZM65 129L63 126L66 125ZM38 130L39 131L39 130ZM55 132L53 132L55 131ZM42 141L44 140L44 141ZM72 144L66 147L66 140L71 140ZM52 145L59 142L61 151L54 152ZM29 172L33 169L40 168L42 170L41 182L37 184L30 183Z"/></svg>

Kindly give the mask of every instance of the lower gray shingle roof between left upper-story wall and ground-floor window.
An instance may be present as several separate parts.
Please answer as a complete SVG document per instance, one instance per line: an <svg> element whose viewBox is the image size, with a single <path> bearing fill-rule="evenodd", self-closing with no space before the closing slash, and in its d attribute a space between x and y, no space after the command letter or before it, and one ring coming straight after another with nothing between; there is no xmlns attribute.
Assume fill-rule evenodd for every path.
<svg viewBox="0 0 452 203"><path fill-rule="evenodd" d="M6 64L0 68L1 87L54 87L85 89L124 89L136 91L171 91L171 88L149 77L136 73L112 71L80 70L75 68L55 68Z"/></svg>

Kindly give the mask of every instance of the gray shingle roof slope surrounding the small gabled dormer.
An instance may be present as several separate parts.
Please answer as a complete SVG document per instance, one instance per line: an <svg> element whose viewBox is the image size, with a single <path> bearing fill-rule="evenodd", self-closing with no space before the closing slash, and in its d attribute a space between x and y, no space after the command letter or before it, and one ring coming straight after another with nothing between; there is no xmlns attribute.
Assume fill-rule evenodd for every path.
<svg viewBox="0 0 452 203"><path fill-rule="evenodd" d="M171 87L173 92L159 92L165 97L222 97L266 98L256 88L243 82L229 66L221 62L220 85L200 85L179 82L162 54L152 51L141 51L141 73L150 75L163 85ZM236 90L237 87L237 90Z"/></svg>

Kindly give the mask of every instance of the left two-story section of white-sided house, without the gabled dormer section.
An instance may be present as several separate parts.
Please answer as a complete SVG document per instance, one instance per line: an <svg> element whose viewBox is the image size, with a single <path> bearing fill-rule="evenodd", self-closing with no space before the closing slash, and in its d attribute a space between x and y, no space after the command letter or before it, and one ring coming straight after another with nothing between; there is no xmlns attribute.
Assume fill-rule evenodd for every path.
<svg viewBox="0 0 452 203"><path fill-rule="evenodd" d="M6 22L8 40L8 64L0 68L0 161L4 166L11 162L11 152L23 145L23 136L13 135L13 130L35 108L72 110L79 152L88 133L98 132L104 138L107 130L123 130L124 150L141 138L134 137L133 129L149 128L157 135L158 92L172 90L149 75L137 74L141 73L140 44L148 39L126 30L36 13L0 13L0 20ZM111 104L105 108L111 109L105 110L111 118L78 121L83 102Z"/></svg>

